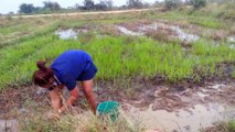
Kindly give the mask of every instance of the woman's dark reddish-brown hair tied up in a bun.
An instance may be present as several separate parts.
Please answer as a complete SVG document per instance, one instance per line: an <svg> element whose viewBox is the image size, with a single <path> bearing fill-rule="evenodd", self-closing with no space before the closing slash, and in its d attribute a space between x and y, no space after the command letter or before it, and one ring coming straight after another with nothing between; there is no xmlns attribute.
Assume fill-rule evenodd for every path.
<svg viewBox="0 0 235 132"><path fill-rule="evenodd" d="M33 84L34 85L38 85L38 86L44 86L46 85L49 81L50 81L50 78L53 77L53 70L52 68L49 68L45 66L45 62L43 61L39 61L36 63L36 66L38 66L38 70L34 72L33 74Z"/></svg>

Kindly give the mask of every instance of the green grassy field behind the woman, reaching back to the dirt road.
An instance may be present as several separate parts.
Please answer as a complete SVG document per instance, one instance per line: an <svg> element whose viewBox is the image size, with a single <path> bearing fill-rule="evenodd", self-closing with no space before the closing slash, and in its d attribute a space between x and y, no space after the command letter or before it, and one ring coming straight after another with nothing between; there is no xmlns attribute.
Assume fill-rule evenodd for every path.
<svg viewBox="0 0 235 132"><path fill-rule="evenodd" d="M234 20L228 14L218 15L223 12L224 7L220 8L221 12L210 12L210 8L194 13L191 13L189 9L183 9L168 12L147 11L70 18L1 19L0 90L12 86L31 86L36 61L44 59L51 64L64 51L74 48L84 50L93 56L99 69L96 76L98 81L119 79L125 82L127 78L150 79L156 76L160 76L165 82L182 80L197 82L204 78L234 78L235 48L231 48L232 44L226 40L227 36L235 33ZM233 12L229 11L229 13ZM199 30L200 40L185 46L179 40L164 41L161 38L165 37L165 34L160 35L160 38L157 40L151 35L127 36L113 29L117 24L142 21L149 23L162 21L185 28L193 25ZM78 34L78 40L61 40L54 34L58 29L84 28L88 29L88 32ZM206 31L217 31L223 34L213 34ZM99 37L99 35L104 35L104 37ZM216 45L214 41L216 41ZM227 72L228 68L229 72ZM66 124L67 120L72 123ZM70 125L57 128L64 131L64 129L81 125L76 123L77 120L81 119L65 117L62 122L43 124L43 120L38 117L29 121L29 125L25 123L26 125L22 129L23 131L33 131L35 129L33 125L38 124L39 130L50 131L53 129L50 128L51 125L56 128L61 127L61 123ZM94 125L84 131L95 132L97 125L103 125L96 123L94 121ZM234 122L228 124L234 127ZM115 127L117 125L110 124L108 129ZM87 127L84 128L87 129ZM131 130L132 128L126 128L135 131Z"/></svg>

